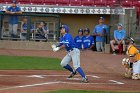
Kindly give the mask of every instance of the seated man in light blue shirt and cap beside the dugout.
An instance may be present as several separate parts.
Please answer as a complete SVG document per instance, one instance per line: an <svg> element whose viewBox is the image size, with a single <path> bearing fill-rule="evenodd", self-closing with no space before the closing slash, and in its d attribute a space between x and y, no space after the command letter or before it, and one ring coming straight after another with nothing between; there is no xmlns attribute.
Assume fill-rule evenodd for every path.
<svg viewBox="0 0 140 93"><path fill-rule="evenodd" d="M114 39L110 41L111 49L114 55L116 55L115 44L117 44L118 46L123 44L123 53L125 54L125 37L126 31L123 29L122 23L118 23L118 29L114 30Z"/></svg>

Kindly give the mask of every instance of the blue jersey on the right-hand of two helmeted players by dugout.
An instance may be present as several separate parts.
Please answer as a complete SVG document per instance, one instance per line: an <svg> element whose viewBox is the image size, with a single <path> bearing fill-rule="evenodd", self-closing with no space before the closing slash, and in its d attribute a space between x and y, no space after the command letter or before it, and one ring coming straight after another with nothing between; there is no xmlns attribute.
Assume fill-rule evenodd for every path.
<svg viewBox="0 0 140 93"><path fill-rule="evenodd" d="M94 39L92 36L85 36L83 38L83 45L84 49L90 48L92 45L94 45Z"/></svg>

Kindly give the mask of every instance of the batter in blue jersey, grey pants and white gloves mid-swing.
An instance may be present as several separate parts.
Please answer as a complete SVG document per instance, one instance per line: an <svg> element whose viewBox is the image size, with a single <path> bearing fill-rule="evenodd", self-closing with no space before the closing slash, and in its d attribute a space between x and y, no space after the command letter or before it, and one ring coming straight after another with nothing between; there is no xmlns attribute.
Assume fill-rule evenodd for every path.
<svg viewBox="0 0 140 93"><path fill-rule="evenodd" d="M68 78L72 78L74 75L76 75L76 72L78 72L82 77L81 82L87 83L88 79L82 68L80 67L80 51L78 48L76 48L74 40L68 32L69 28L67 25L62 25L60 27L60 34L62 36L60 37L58 46L52 46L53 51L56 52L62 48L65 48L67 51L67 55L62 59L61 66L71 72ZM71 61L73 61L74 70L69 65L69 62Z"/></svg>

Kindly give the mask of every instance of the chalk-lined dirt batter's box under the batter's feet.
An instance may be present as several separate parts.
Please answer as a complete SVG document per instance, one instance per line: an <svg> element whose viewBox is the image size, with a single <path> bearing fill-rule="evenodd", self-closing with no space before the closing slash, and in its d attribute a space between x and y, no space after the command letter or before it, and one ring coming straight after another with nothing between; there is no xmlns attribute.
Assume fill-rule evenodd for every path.
<svg viewBox="0 0 140 93"><path fill-rule="evenodd" d="M49 81L59 81L63 84L83 84L80 83L81 76L75 75L73 78L67 78L68 75L31 75L27 77L32 78L47 78ZM108 80L106 78L101 78L96 75L87 75L89 83L86 84L124 84L123 82L117 80Z"/></svg>

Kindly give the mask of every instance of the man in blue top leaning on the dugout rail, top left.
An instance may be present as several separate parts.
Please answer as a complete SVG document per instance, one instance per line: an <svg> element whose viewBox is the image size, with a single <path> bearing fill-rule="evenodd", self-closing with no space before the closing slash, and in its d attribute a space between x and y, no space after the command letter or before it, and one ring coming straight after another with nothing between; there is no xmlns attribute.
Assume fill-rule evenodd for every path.
<svg viewBox="0 0 140 93"><path fill-rule="evenodd" d="M21 8L16 5L16 1L13 0L12 5L8 7L5 11L9 15L9 32L12 38L17 38L17 29L18 29L18 16L14 14L22 14Z"/></svg>

